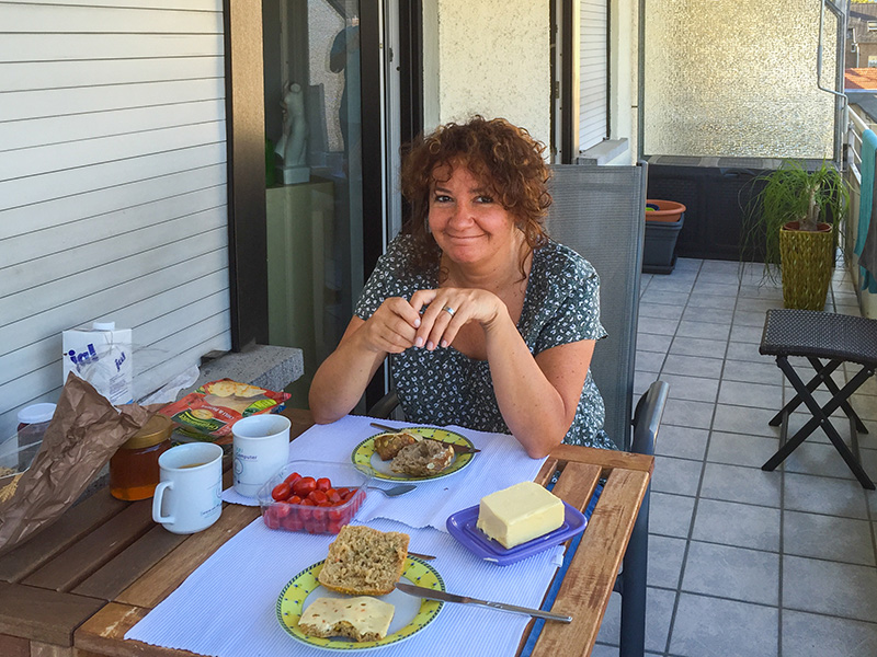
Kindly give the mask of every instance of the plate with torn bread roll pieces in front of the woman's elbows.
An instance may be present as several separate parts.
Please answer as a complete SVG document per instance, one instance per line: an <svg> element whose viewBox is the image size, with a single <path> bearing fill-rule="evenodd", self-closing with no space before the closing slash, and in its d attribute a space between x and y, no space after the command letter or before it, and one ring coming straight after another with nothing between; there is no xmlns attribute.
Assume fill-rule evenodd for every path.
<svg viewBox="0 0 877 657"><path fill-rule="evenodd" d="M410 482L447 476L471 463L472 453L453 445L475 449L471 440L437 427L408 427L366 438L351 454L353 463L386 481Z"/></svg>

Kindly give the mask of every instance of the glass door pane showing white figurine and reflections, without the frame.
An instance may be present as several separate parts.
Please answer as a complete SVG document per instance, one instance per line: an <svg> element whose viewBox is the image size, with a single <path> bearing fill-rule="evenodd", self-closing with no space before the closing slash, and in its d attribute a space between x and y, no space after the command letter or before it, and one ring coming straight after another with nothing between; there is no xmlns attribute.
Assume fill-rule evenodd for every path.
<svg viewBox="0 0 877 657"><path fill-rule="evenodd" d="M263 2L269 338L304 350L299 407L363 284L358 24L357 2Z"/></svg>

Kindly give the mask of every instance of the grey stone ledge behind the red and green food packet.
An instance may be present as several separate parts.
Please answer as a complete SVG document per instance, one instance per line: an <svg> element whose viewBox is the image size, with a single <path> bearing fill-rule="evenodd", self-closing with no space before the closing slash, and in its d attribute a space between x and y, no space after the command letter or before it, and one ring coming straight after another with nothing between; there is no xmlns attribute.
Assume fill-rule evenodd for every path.
<svg viewBox="0 0 877 657"><path fill-rule="evenodd" d="M234 379L280 392L305 373L301 349L295 347L250 345L242 351L202 359L201 376L192 390L207 381Z"/></svg>

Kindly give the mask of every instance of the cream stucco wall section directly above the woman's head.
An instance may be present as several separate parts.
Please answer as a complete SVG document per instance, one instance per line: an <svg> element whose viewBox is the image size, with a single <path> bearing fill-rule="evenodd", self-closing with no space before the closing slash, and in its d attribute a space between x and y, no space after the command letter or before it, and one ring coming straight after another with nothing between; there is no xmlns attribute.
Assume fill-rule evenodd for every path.
<svg viewBox="0 0 877 657"><path fill-rule="evenodd" d="M426 0L426 129L502 116L550 142L548 0Z"/></svg>

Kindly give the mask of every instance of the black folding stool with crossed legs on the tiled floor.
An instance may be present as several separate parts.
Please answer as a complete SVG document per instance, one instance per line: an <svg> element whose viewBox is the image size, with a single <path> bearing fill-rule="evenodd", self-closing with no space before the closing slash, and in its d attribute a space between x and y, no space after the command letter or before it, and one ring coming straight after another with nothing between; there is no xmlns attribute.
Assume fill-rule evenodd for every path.
<svg viewBox="0 0 877 657"><path fill-rule="evenodd" d="M877 320L812 310L768 310L759 351L765 356L776 356L776 365L797 392L768 423L774 427L782 425L781 447L761 469L774 470L817 427L822 427L859 483L874 491L874 482L865 473L858 459L857 433L868 431L847 400L877 368ZM816 370L816 376L808 383L795 371L788 361L789 356L807 358ZM827 362L823 364L823 360ZM831 374L844 362L858 364L862 369L843 388L839 388ZM820 384L824 384L832 394L823 406L819 405L812 394ZM788 438L788 416L800 404L807 406L812 417ZM842 408L850 418L852 451L829 418L838 408Z"/></svg>

